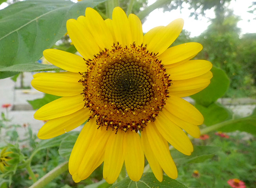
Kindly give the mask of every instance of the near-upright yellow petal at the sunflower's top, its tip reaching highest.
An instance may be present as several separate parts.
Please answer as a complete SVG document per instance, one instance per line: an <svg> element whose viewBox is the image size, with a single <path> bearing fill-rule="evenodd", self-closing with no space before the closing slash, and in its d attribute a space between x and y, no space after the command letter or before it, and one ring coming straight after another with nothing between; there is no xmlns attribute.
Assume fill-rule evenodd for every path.
<svg viewBox="0 0 256 188"><path fill-rule="evenodd" d="M116 41L121 45L130 47L132 44L131 29L128 18L120 7L115 7L112 14L112 23Z"/></svg>

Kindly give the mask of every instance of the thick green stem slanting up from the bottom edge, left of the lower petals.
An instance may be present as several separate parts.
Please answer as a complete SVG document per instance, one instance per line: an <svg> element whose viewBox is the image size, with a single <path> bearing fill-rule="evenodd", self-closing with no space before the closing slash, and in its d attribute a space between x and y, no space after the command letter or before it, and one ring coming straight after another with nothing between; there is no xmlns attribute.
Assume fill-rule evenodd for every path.
<svg viewBox="0 0 256 188"><path fill-rule="evenodd" d="M67 171L68 162L64 162L59 166L56 166L53 170L45 174L42 178L40 178L36 183L31 185L29 188L44 188L45 185L50 183L54 178L58 177L63 172Z"/></svg>

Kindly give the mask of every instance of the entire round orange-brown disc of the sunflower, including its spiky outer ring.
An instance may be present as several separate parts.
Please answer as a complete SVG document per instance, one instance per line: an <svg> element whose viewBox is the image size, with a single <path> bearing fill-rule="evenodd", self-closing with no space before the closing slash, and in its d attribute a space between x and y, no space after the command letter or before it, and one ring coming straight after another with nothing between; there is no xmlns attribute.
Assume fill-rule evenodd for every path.
<svg viewBox="0 0 256 188"><path fill-rule="evenodd" d="M146 45L113 44L85 60L88 71L80 73L85 107L96 122L113 130L138 132L155 121L165 105L171 85L169 75Z"/></svg>

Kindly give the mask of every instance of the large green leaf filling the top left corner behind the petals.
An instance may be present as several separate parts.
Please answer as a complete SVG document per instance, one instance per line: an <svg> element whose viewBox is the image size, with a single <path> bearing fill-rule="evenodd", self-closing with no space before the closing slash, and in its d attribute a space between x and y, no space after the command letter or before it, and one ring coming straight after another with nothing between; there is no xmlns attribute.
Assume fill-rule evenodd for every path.
<svg viewBox="0 0 256 188"><path fill-rule="evenodd" d="M94 7L104 1L86 0L73 3L69 0L27 0L2 9L0 71L56 69L49 65L38 65L35 61L42 57L44 49L50 48L64 36L68 19L76 19L85 14L86 7ZM11 75L9 72L11 76L14 74L17 73Z"/></svg>

